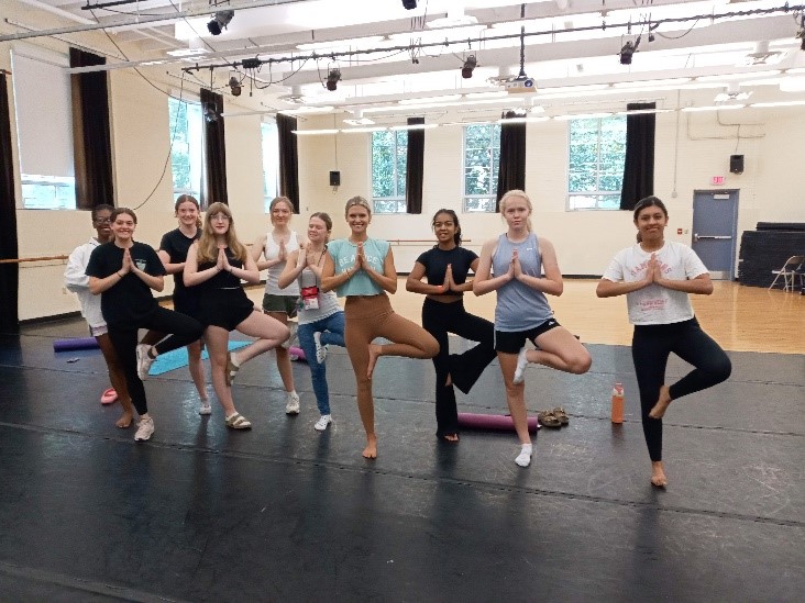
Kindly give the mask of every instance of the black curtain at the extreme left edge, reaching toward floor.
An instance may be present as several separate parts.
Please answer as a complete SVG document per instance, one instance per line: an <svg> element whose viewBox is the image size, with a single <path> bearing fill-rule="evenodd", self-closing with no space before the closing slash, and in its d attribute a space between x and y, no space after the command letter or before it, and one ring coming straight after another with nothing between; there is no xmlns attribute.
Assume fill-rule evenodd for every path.
<svg viewBox="0 0 805 603"><path fill-rule="evenodd" d="M5 74L0 72L0 259L16 259L16 202L11 158L11 112ZM20 265L0 264L0 333L19 333Z"/></svg>

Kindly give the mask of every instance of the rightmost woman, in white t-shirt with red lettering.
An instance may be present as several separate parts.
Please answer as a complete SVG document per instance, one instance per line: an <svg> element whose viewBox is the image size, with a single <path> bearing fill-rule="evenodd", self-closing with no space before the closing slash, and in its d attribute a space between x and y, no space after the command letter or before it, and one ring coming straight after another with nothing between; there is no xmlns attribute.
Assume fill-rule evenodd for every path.
<svg viewBox="0 0 805 603"><path fill-rule="evenodd" d="M643 434L651 458L651 483L665 487L662 465L662 416L673 400L725 381L727 355L698 325L688 293L709 295L713 282L698 256L681 243L666 242L668 210L657 197L635 208L638 244L621 249L598 283L599 298L627 297L635 325L631 356L640 389ZM694 370L665 384L671 353Z"/></svg>

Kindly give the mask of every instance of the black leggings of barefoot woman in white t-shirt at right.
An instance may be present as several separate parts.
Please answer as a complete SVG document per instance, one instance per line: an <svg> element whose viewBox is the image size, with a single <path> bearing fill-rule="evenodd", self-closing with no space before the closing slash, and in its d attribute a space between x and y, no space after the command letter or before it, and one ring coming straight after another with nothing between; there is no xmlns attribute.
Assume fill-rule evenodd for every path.
<svg viewBox="0 0 805 603"><path fill-rule="evenodd" d="M665 366L671 353L694 369L670 387L671 400L677 400L725 381L732 371L729 357L698 325L696 319L673 324L636 325L631 357L640 388L643 434L652 461L662 460L662 420L651 418L660 388L665 383Z"/></svg>

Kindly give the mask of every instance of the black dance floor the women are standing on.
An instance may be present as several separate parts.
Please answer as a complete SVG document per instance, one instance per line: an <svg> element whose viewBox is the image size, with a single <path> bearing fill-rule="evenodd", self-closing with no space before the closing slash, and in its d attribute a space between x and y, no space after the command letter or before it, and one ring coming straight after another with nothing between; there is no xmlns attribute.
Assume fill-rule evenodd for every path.
<svg viewBox="0 0 805 603"><path fill-rule="evenodd" d="M99 350L54 353L80 320L0 337L3 601L801 601L805 591L805 356L730 353L732 377L674 402L666 490L650 485L630 350L588 346L572 376L529 367L542 428L531 467L514 433L434 437L430 361L382 358L378 459L343 349L327 366L334 424L309 369L286 416L271 355L233 388L249 432L186 368L152 377L156 432L119 429ZM456 347L461 340L452 343ZM685 371L673 359L669 380ZM609 422L614 381L626 422ZM506 412L493 364L460 411Z"/></svg>

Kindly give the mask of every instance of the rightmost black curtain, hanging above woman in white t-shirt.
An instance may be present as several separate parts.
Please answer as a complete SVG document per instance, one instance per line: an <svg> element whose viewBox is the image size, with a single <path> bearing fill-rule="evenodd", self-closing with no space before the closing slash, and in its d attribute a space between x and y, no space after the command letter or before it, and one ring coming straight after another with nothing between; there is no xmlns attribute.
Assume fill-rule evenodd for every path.
<svg viewBox="0 0 805 603"><path fill-rule="evenodd" d="M653 102L635 102L628 111L655 109ZM654 194L654 129L655 113L626 115L626 161L624 185L620 189L620 209L633 210L643 197Z"/></svg>

